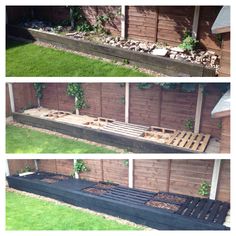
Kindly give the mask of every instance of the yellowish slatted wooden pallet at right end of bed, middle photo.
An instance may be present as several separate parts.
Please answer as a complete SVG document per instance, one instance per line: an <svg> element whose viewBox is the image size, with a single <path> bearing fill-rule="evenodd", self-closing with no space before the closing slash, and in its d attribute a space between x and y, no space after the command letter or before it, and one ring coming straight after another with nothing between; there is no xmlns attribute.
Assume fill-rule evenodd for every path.
<svg viewBox="0 0 236 236"><path fill-rule="evenodd" d="M196 152L204 152L210 137L209 134L194 134L192 132L176 130L166 144Z"/></svg>

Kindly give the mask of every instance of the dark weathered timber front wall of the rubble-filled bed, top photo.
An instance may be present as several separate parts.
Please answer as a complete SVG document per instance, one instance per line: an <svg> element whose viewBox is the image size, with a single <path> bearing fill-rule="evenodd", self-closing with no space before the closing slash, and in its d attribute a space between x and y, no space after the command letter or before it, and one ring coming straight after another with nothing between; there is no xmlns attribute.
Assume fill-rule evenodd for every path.
<svg viewBox="0 0 236 236"><path fill-rule="evenodd" d="M166 57L129 51L123 48L112 47L86 40L71 39L66 36L27 29L15 25L7 25L6 29L8 37L51 43L65 49L92 54L111 60L128 60L130 64L151 69L168 76L216 76L215 69L206 68L203 65L190 62L181 62Z"/></svg>

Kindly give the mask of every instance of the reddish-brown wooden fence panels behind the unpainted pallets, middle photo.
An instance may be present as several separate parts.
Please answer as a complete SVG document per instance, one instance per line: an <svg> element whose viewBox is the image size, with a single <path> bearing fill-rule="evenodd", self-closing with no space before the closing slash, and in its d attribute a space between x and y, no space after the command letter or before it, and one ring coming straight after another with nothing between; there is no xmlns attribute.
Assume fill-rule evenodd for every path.
<svg viewBox="0 0 236 236"><path fill-rule="evenodd" d="M80 111L81 115L125 120L124 84L84 83L82 87L88 107ZM74 99L67 95L66 89L66 83L47 83L41 105L72 112ZM37 104L32 84L15 83L13 92L16 111ZM211 118L211 111L221 96L218 89L208 84L200 122L200 132L217 138L221 137L220 119ZM8 96L6 102L6 115L9 115ZM148 89L139 89L136 83L130 83L129 122L185 130L186 122L195 118L196 104L197 91L163 90L156 84Z"/></svg>

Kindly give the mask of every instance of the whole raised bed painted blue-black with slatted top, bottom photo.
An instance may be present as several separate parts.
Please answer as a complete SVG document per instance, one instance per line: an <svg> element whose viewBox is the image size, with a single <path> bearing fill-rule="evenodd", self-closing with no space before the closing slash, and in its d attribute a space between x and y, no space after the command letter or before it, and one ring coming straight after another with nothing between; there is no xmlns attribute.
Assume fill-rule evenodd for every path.
<svg viewBox="0 0 236 236"><path fill-rule="evenodd" d="M229 203L167 192L148 192L58 174L8 176L10 187L118 216L162 230L227 230ZM45 179L52 181L45 181Z"/></svg>

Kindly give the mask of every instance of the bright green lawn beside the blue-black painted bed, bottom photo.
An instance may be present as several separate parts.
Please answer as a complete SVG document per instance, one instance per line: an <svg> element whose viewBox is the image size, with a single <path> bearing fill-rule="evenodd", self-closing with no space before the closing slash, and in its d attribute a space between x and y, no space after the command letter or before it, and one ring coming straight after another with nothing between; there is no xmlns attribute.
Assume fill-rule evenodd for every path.
<svg viewBox="0 0 236 236"><path fill-rule="evenodd" d="M7 230L140 230L102 216L6 192Z"/></svg>

